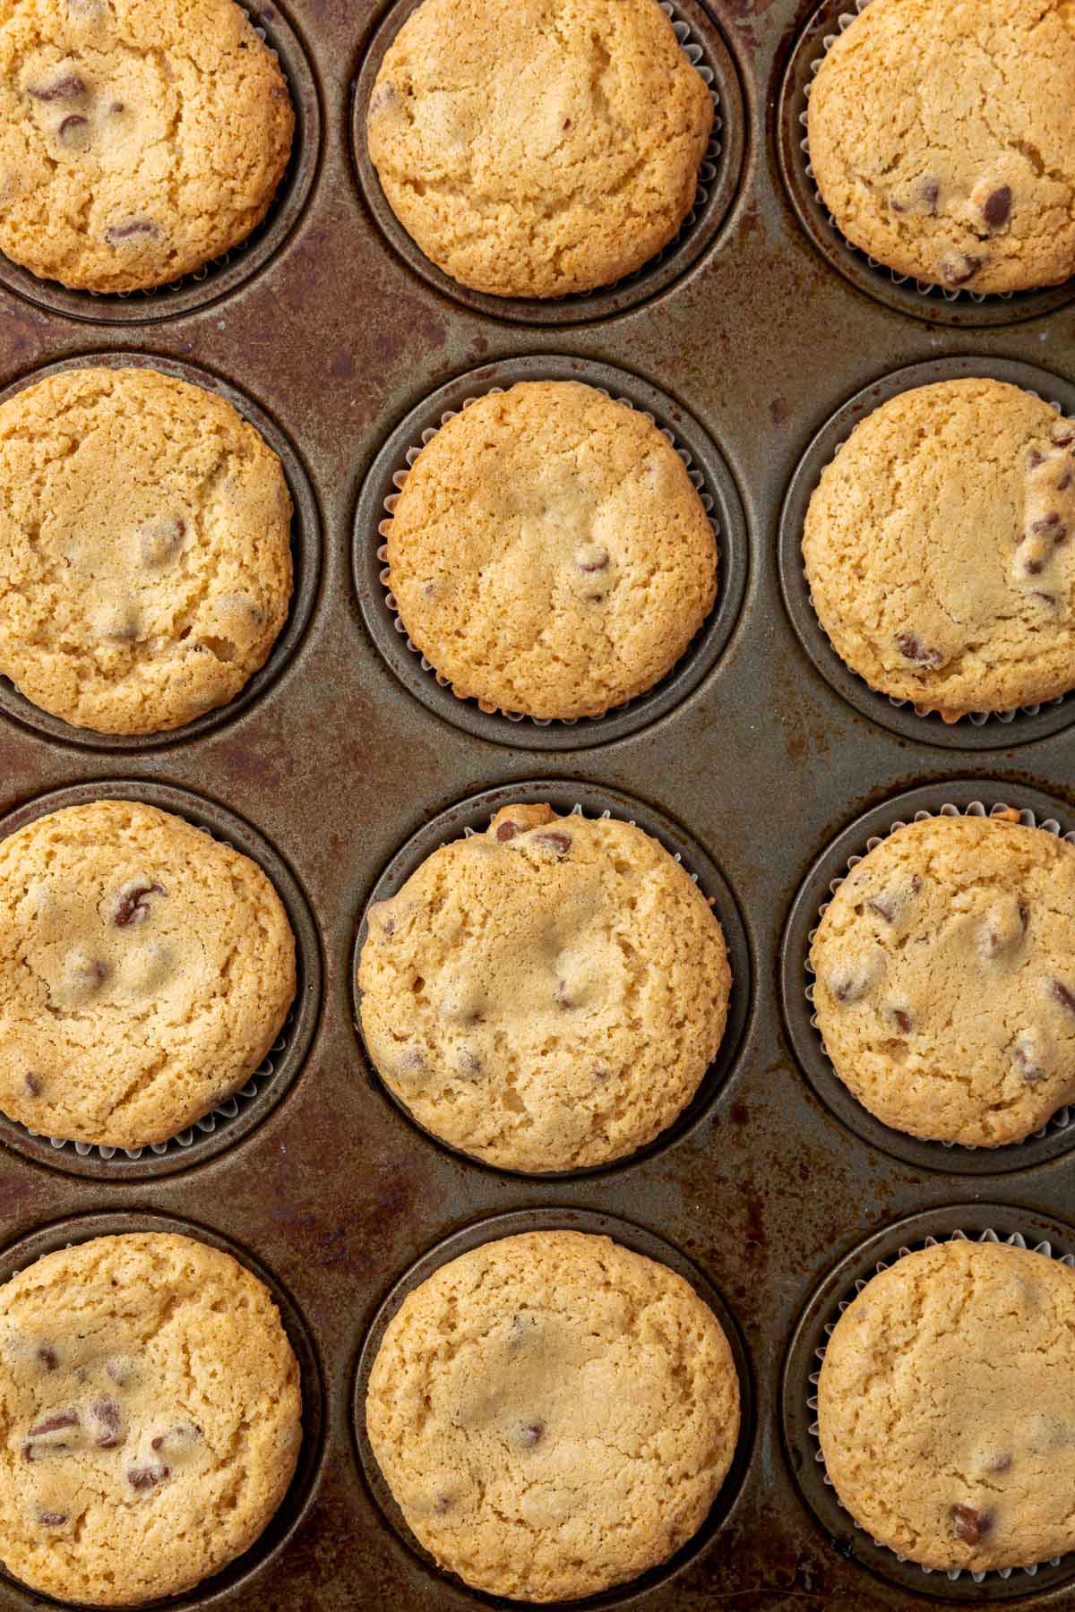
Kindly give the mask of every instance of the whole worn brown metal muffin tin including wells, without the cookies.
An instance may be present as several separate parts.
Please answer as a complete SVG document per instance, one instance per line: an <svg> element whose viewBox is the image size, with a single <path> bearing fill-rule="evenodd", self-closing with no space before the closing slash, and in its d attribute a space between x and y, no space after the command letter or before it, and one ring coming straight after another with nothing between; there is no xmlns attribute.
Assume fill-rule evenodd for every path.
<svg viewBox="0 0 1075 1612"><path fill-rule="evenodd" d="M1004 800L1038 812L1044 803L1044 816L1075 824L1069 701L1011 724L941 730L861 683L853 695L825 659L824 637L811 637L809 606L793 598L798 534L788 514L790 492L806 485L796 471L817 434L836 419L861 418L870 397L883 395L877 388L906 384L911 366L980 368L1012 379L1030 376L1012 366L1030 366L1056 380L1056 392L1041 382L1043 395L1072 397L1069 290L949 303L893 287L865 260L853 264L838 240L822 251L814 226L799 216L804 205L791 177L803 155L795 121L801 106L793 100L816 45L801 40L817 26L832 32L832 19L817 23L814 5L799 0L709 0L708 8L683 0L699 37L704 32L727 56L720 161L730 189L717 226L670 274L664 266L643 271L604 297L540 310L479 301L438 280L392 234L361 171L364 93L390 16L401 13L367 0L288 0L272 10L264 27L301 100L306 195L287 229L253 261L259 248L251 245L234 279L230 264L219 274L210 269L179 293L68 297L0 266L0 388L56 363L100 355L129 361L132 350L139 361L195 366L192 379L237 388L239 406L293 448L293 461L285 455L288 477L297 464L309 484L301 540L309 534L311 548L297 546L300 580L313 579L308 627L285 656L271 659L251 698L160 740L113 745L63 725L52 730L5 696L0 814L32 812L55 790L92 798L116 780L160 804L174 800L177 809L197 800L210 827L211 814L229 812L256 846L253 854L269 848L309 904L322 1008L282 1101L227 1146L205 1149L172 1174L74 1174L47 1143L35 1153L21 1138L0 1138L2 1241L10 1249L0 1278L56 1240L166 1217L234 1241L290 1294L324 1383L322 1425L318 1391L308 1390L308 1431L321 1459L309 1464L301 1504L285 1502L250 1562L182 1597L184 1607L464 1612L488 1604L421 1562L385 1519L364 1475L355 1388L359 1359L369 1359L369 1328L384 1320L396 1283L425 1269L419 1262L543 1217L609 1227L612 1235L612 1222L624 1222L625 1240L659 1238L661 1249L674 1251L669 1259L688 1261L727 1307L741 1340L741 1373L753 1386L754 1433L711 1523L672 1572L622 1586L603 1597L608 1606L1069 1607L1070 1583L1051 1570L949 1583L874 1559L846 1515L820 1507L804 1481L801 1440L809 1444L809 1433L799 1422L809 1410L796 1399L785 1414L783 1394L788 1351L799 1323L814 1325L830 1272L840 1286L843 1262L869 1240L882 1251L906 1243L907 1217L924 1217L922 1236L980 1224L1070 1246L1064 1238L1075 1220L1075 1156L1065 1145L1036 1143L982 1161L973 1154L970 1178L957 1149L925 1157L891 1133L865 1135L849 1114L833 1111L833 1090L822 1090L809 1051L814 1032L809 1022L793 1022L787 987L787 1017L782 1011L801 914L796 896L833 856L827 877L836 877L840 856L846 862L859 850L856 837L877 832L867 814L891 822L906 809L901 796L924 791L936 804ZM288 39L300 42L298 56ZM300 58L308 68L301 92ZM656 388L662 408L682 416L669 418L669 427L680 432L690 422L699 443L711 445L740 509L743 585L727 638L703 675L650 706L630 732L611 727L616 717L561 725L572 735L569 748L556 740L556 724L490 719L495 725L485 727L458 713L448 719L446 706L430 708L401 680L379 646L364 569L363 545L372 548L376 522L356 526L359 501L385 495L382 450L401 440L393 434L414 411L424 418L430 401L437 406L442 388L461 398L475 371L529 372L540 364L553 372L564 363L582 379L611 366L640 397ZM633 397L627 380L624 392ZM816 469L822 463L816 459ZM295 480L292 490L300 503ZM416 677L434 682L421 669ZM527 788L533 780L540 787ZM735 893L751 959L740 1045L733 1056L728 1049L722 1077L690 1124L638 1159L567 1178L485 1169L427 1138L387 1101L366 1064L353 1022L364 906L382 875L405 869L396 858L406 858L413 837L422 835L416 845L424 845L442 812L461 824L485 791L496 791L496 803L517 791L583 806L625 796L643 825L670 830L704 888L712 864ZM488 796L480 806L487 809ZM722 887L709 893L724 919ZM798 964L801 958L799 948ZM972 1211L988 1219L977 1222ZM372 1483L376 1477L369 1473ZM40 1606L40 1596L0 1581L0 1607Z"/></svg>

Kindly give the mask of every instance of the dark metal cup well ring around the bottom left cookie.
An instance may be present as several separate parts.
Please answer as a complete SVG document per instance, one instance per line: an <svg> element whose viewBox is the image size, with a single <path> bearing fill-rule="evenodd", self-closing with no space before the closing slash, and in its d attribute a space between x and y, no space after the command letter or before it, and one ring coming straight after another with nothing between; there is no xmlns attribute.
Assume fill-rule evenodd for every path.
<svg viewBox="0 0 1075 1612"><path fill-rule="evenodd" d="M272 1294L272 1301L280 1312L280 1323L287 1341L295 1351L295 1361L298 1362L303 1399L303 1440L295 1475L277 1510L253 1544L242 1556L237 1556L234 1562L229 1562L210 1578L203 1578L192 1589L169 1596L166 1601L150 1602L153 1607L168 1607L169 1612L197 1612L201 1607L232 1604L235 1593L242 1593L242 1589L256 1581L256 1577L264 1572L269 1562L279 1557L280 1551L306 1520L319 1488L324 1460L327 1414L324 1375L306 1319L284 1283L271 1270L266 1270L259 1259L250 1254L242 1244L232 1243L230 1238L210 1227L182 1220L177 1215L156 1214L153 1211L114 1211L55 1220L0 1249L0 1285L10 1282L11 1277L26 1270L45 1254L53 1254L61 1248L73 1248L95 1236L119 1236L134 1232L164 1232L172 1236L190 1236L198 1243L206 1243L210 1248L218 1248L230 1254L240 1265L245 1265ZM0 1585L3 1586L5 1607L40 1612L45 1606L66 1607L73 1604L60 1599L53 1601L52 1596L42 1596L3 1567L0 1567ZM251 1594L256 1596L256 1589L251 1589Z"/></svg>

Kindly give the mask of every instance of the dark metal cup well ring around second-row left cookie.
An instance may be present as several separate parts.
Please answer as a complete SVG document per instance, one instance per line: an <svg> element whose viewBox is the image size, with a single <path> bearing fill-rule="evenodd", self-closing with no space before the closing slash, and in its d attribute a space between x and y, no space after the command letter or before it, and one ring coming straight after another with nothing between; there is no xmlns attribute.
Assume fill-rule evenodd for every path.
<svg viewBox="0 0 1075 1612"><path fill-rule="evenodd" d="M140 353L132 348L119 351L81 353L77 358L61 358L56 363L44 364L0 392L0 403L18 397L27 387L66 371L76 369L155 369L172 380L184 380L187 385L200 387L214 397L230 403L235 413L258 432L261 440L276 453L284 471L287 490L292 495L292 600L284 622L264 664L247 679L243 687L226 704L214 706L201 716L192 717L182 727L166 729L160 733L98 733L95 729L74 727L63 717L53 716L42 706L34 704L19 693L13 682L0 677L0 713L21 722L24 727L44 733L45 738L60 740L68 745L79 745L85 750L108 750L116 753L160 750L164 745L181 745L187 740L201 738L214 732L224 722L230 722L247 711L261 695L268 693L276 679L298 653L306 629L318 603L321 585L321 509L306 472L306 467L292 443L290 437L253 398L242 392L230 380L214 376L197 364L184 364L176 358L164 358L160 353Z"/></svg>

